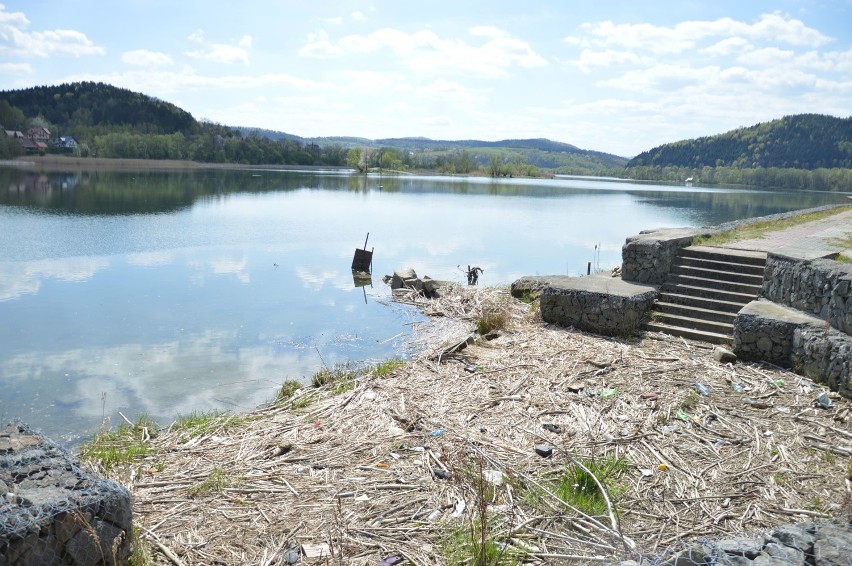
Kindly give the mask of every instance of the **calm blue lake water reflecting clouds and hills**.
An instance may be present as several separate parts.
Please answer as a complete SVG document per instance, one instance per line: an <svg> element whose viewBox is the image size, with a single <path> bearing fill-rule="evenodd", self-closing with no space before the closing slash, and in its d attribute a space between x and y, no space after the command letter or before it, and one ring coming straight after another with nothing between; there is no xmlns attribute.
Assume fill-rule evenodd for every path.
<svg viewBox="0 0 852 566"><path fill-rule="evenodd" d="M102 419L248 410L324 362L405 356L381 277L480 283L621 263L640 230L844 202L615 180L0 168L0 421L74 444ZM369 232L372 286L350 271Z"/></svg>

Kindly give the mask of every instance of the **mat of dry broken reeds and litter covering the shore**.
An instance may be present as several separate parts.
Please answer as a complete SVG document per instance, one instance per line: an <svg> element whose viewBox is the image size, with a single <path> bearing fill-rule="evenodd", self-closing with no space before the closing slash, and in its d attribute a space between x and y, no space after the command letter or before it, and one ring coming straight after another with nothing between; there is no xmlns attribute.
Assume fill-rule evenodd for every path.
<svg viewBox="0 0 852 566"><path fill-rule="evenodd" d="M113 474L154 563L607 562L849 513L850 403L807 379L548 326L497 289L410 300L434 322L407 365L162 431ZM469 340L494 312L505 329ZM559 492L566 470L592 472L598 512Z"/></svg>

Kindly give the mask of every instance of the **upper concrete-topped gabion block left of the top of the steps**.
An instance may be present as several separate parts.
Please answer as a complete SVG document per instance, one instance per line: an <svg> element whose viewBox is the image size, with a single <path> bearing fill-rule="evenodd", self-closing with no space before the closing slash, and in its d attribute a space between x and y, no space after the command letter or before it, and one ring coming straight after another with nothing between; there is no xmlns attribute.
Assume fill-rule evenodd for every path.
<svg viewBox="0 0 852 566"><path fill-rule="evenodd" d="M701 228L644 230L630 236L621 247L621 277L625 281L661 284L671 271L680 248L692 245L696 236L712 231Z"/></svg>

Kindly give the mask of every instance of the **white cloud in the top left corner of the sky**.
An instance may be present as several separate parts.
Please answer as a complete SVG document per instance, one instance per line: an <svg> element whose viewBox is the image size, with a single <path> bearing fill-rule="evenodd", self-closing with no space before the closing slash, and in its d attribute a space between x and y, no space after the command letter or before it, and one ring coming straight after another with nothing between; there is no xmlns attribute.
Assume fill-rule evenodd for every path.
<svg viewBox="0 0 852 566"><path fill-rule="evenodd" d="M106 49L95 45L86 34L67 29L25 31L30 21L22 12L7 12L0 4L0 53L17 57L53 55L104 55Z"/></svg>

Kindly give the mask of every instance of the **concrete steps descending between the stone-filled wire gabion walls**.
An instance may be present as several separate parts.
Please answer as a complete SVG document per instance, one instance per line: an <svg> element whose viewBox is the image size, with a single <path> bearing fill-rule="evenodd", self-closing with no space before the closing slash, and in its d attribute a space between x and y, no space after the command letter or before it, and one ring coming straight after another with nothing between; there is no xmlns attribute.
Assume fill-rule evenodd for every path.
<svg viewBox="0 0 852 566"><path fill-rule="evenodd" d="M760 294L765 266L763 252L682 248L645 329L730 345L734 318Z"/></svg>

